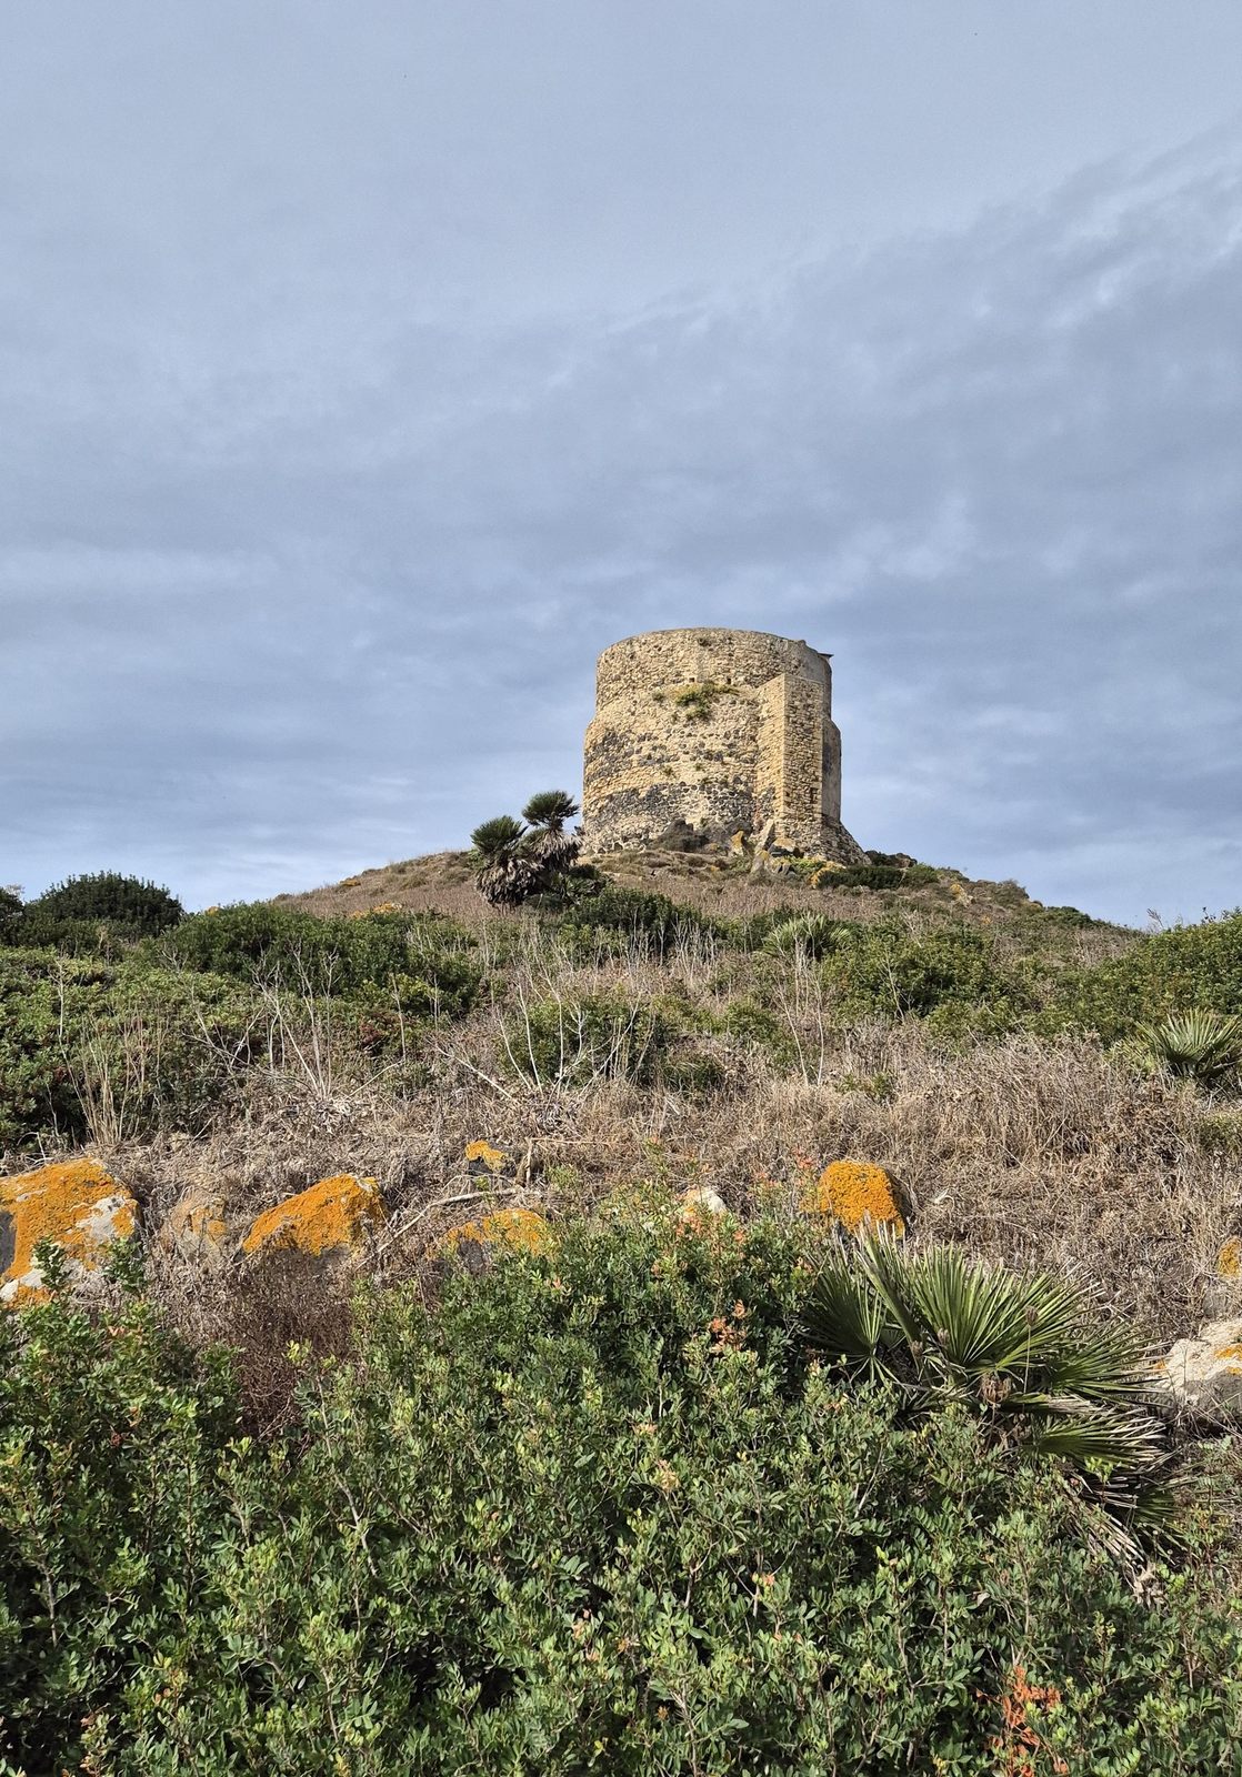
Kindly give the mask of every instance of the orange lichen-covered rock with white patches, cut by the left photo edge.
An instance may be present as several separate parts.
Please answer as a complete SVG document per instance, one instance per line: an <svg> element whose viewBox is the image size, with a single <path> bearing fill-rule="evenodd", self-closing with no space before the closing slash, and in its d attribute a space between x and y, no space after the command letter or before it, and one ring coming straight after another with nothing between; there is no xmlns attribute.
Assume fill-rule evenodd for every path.
<svg viewBox="0 0 1242 1777"><path fill-rule="evenodd" d="M41 1294L34 1249L43 1240L60 1247L71 1272L89 1276L137 1223L133 1196L98 1160L60 1160L0 1178L0 1303Z"/></svg>

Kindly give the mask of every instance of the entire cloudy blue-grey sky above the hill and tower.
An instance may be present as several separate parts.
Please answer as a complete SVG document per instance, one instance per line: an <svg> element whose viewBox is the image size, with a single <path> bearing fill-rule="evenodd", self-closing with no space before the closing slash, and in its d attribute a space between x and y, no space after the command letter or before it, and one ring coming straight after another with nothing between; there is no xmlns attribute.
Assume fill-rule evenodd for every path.
<svg viewBox="0 0 1242 1777"><path fill-rule="evenodd" d="M1242 901L1238 0L5 0L0 881L579 785L835 656L867 846Z"/></svg>

